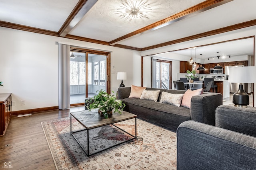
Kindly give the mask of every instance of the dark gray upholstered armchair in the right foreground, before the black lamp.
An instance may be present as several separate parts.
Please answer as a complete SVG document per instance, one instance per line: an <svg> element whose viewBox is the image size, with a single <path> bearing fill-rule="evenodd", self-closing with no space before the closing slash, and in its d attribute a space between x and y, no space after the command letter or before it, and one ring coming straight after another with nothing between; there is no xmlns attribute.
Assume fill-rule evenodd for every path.
<svg viewBox="0 0 256 170"><path fill-rule="evenodd" d="M256 109L216 108L215 126L185 121L177 129L177 170L255 170Z"/></svg>

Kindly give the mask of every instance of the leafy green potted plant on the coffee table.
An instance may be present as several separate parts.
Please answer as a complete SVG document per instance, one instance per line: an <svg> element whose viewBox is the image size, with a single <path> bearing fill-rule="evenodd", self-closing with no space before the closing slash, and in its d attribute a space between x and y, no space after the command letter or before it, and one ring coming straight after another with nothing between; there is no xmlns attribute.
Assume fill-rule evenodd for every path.
<svg viewBox="0 0 256 170"><path fill-rule="evenodd" d="M106 93L104 90L97 91L98 95L86 100L87 108L99 109L99 113L108 119L108 114L112 115L112 110L121 114L124 110L125 104L121 100L116 100L116 96ZM113 92L113 91L112 91ZM113 92L114 93L114 92Z"/></svg>

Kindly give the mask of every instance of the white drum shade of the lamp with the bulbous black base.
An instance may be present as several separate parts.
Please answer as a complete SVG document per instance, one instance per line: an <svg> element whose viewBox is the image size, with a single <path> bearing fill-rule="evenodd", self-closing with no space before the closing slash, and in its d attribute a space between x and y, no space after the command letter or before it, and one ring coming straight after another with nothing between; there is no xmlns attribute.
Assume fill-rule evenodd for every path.
<svg viewBox="0 0 256 170"><path fill-rule="evenodd" d="M231 67L228 82L230 83L255 83L256 66Z"/></svg>

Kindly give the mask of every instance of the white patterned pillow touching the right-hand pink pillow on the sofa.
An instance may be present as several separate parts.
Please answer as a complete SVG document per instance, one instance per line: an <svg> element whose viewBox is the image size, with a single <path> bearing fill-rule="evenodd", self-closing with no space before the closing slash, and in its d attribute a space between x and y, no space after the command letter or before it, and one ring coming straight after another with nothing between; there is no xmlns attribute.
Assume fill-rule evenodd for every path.
<svg viewBox="0 0 256 170"><path fill-rule="evenodd" d="M160 103L166 103L180 107L183 96L184 94L162 92Z"/></svg>

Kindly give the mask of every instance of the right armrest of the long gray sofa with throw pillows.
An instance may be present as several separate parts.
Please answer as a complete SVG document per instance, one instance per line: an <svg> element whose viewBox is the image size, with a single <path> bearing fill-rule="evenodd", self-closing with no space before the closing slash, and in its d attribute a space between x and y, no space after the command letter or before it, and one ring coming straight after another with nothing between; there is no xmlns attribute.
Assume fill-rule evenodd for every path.
<svg viewBox="0 0 256 170"><path fill-rule="evenodd" d="M206 123L215 124L215 109L222 105L220 93L206 93L191 98L190 114L191 119Z"/></svg>

